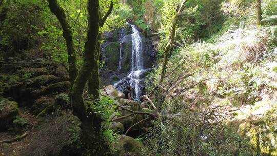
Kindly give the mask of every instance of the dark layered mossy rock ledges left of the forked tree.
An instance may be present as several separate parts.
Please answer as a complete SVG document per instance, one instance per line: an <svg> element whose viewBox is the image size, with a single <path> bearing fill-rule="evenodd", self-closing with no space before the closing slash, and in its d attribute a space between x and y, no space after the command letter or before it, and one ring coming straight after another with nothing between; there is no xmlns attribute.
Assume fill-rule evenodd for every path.
<svg viewBox="0 0 277 156"><path fill-rule="evenodd" d="M54 104L57 94L69 91L67 70L50 60L11 61L9 65L13 68L8 73L18 80L6 87L4 96L12 97L19 106L29 107L34 115Z"/></svg>

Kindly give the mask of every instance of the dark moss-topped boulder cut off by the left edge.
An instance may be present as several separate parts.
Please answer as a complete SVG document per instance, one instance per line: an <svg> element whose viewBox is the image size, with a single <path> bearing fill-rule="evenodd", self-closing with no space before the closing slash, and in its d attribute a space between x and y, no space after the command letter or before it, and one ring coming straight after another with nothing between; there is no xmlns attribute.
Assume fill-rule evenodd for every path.
<svg viewBox="0 0 277 156"><path fill-rule="evenodd" d="M0 99L0 130L9 128L18 114L19 110L16 102Z"/></svg>

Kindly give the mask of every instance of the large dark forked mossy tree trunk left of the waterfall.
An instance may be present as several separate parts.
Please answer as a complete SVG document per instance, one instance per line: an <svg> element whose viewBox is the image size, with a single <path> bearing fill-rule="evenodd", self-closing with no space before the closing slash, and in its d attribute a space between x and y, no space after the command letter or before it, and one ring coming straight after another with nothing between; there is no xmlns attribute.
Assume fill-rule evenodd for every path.
<svg viewBox="0 0 277 156"><path fill-rule="evenodd" d="M88 79L92 79L93 76L94 84L89 88L90 90L97 90L93 92L94 99L98 99L98 88L99 88L99 77L98 77L98 62L99 62L99 27L100 21L100 10L98 0L88 0L88 28L87 37L84 48L84 62L81 69L77 73L75 66L75 47L72 40L72 30L67 23L66 15L64 10L58 5L57 0L48 0L49 7L52 13L56 15L58 21L61 23L64 31L64 37L66 38L68 55L71 59L68 60L70 80L72 82L71 87L71 105L73 107L74 114L82 122L82 136L81 141L83 149L86 154L89 155L105 155L109 152L108 144L104 140L102 133L101 116L94 113L90 104L85 102L83 99L83 91ZM107 17L106 17L107 18ZM72 55L71 55L72 54ZM77 74L76 74L77 73ZM97 80L97 82L96 82Z"/></svg>

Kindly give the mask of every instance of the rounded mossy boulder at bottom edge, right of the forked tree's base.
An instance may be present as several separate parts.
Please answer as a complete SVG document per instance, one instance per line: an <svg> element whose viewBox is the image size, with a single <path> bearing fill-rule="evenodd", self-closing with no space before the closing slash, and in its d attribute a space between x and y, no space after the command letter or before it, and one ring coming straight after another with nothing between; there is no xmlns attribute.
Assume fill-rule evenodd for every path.
<svg viewBox="0 0 277 156"><path fill-rule="evenodd" d="M133 139L130 136L121 135L118 142L113 144L117 155L141 155L145 148L143 143Z"/></svg>

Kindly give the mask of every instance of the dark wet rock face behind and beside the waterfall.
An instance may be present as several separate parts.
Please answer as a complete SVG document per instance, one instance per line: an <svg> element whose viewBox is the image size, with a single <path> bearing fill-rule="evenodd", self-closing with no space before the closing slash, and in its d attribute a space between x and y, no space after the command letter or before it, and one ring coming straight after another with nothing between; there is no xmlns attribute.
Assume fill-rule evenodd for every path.
<svg viewBox="0 0 277 156"><path fill-rule="evenodd" d="M124 80L121 88L119 88L120 91L125 89L125 84L128 83L127 75L132 67L132 33L131 26L128 26L121 30L104 33L102 36L106 41L101 45L102 61L105 62L100 71L102 83L113 85L120 80ZM142 40L143 69L152 68L157 52L155 43L144 37L141 32L140 36ZM146 75L147 72L143 74L144 77ZM144 82L143 79L142 81ZM143 87L142 90L144 91Z"/></svg>

